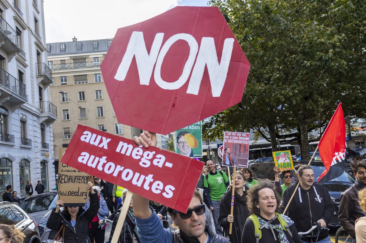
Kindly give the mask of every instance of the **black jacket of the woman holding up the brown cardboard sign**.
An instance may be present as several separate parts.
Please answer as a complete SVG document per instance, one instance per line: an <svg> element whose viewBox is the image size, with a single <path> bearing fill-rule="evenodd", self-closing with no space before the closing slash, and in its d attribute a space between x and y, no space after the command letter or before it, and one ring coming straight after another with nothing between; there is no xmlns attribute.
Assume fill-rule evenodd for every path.
<svg viewBox="0 0 366 243"><path fill-rule="evenodd" d="M79 212L76 215L75 227L72 227L70 223L71 217L67 209L57 213L55 212L55 209L53 209L47 221L47 228L58 231L61 225L64 225L60 232L61 236L63 234L65 236L63 242L91 243L88 235L89 226L91 220L97 215L99 210L99 200L97 193L89 193L89 197L90 207L87 210L79 208Z"/></svg>

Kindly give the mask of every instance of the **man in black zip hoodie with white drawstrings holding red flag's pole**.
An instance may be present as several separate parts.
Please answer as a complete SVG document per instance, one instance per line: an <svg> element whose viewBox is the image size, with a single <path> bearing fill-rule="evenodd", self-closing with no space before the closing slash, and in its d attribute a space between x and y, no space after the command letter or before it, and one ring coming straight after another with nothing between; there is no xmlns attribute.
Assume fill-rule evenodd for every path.
<svg viewBox="0 0 366 243"><path fill-rule="evenodd" d="M315 222L326 227L334 213L333 202L329 192L321 184L314 183L315 175L313 168L308 165L296 166L300 186L290 203L286 214L294 221L299 232L308 231ZM291 185L283 194L283 208L288 204L296 185ZM306 235L307 242L330 243L328 231L322 229L317 234L314 230Z"/></svg>

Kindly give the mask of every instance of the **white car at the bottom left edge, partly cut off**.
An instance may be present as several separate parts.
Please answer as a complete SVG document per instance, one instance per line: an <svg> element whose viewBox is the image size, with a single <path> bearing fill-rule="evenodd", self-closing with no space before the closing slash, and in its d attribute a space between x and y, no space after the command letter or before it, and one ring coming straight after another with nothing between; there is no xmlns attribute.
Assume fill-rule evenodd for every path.
<svg viewBox="0 0 366 243"><path fill-rule="evenodd" d="M18 203L0 202L0 224L14 225L25 234L25 243L41 243L36 220L32 219Z"/></svg>

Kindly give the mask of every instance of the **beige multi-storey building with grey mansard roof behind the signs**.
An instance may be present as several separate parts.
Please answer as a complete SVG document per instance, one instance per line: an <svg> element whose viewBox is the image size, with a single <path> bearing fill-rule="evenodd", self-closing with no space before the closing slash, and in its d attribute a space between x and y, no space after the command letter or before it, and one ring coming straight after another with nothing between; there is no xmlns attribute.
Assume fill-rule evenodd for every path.
<svg viewBox="0 0 366 243"><path fill-rule="evenodd" d="M100 65L112 39L47 43L52 70L52 103L59 119L53 126L56 165L59 148L66 147L78 124L132 139L141 130L117 121ZM57 166L56 166L56 171Z"/></svg>

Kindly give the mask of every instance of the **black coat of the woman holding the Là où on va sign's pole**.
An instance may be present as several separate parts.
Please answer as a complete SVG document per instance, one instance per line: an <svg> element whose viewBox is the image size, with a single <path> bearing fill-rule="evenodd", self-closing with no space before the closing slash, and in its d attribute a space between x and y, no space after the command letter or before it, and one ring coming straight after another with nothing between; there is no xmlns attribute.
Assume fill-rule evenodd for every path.
<svg viewBox="0 0 366 243"><path fill-rule="evenodd" d="M235 192L235 199L234 199L234 223L232 224L232 233L229 234L230 223L228 222L228 215L231 213L231 195L232 190L229 189L227 192L224 193L223 197L221 197L220 201L220 209L219 209L219 224L224 229L224 236L229 236L229 240L231 243L238 243L242 238L242 233L244 229L244 224L249 217L249 211L246 205L246 196L247 196L247 189L244 191L242 196L243 200L240 202L237 200L240 195Z"/></svg>

